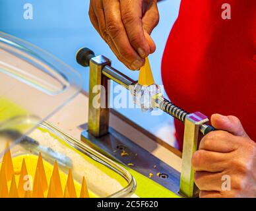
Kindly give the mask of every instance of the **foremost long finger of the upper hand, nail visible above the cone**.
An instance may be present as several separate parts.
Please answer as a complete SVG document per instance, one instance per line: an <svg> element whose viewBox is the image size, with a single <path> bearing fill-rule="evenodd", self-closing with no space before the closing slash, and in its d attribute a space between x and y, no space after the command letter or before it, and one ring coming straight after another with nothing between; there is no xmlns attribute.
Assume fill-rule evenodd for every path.
<svg viewBox="0 0 256 211"><path fill-rule="evenodd" d="M146 42L142 21L143 1L120 0L121 20L125 26L129 42L142 58L150 53Z"/></svg>

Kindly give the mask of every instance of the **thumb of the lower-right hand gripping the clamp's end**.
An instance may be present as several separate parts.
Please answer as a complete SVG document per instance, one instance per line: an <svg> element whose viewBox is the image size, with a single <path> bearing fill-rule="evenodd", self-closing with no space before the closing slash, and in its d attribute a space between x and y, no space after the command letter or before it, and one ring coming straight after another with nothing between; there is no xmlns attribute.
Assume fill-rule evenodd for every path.
<svg viewBox="0 0 256 211"><path fill-rule="evenodd" d="M210 121L216 129L227 131L235 136L249 137L238 117L213 114Z"/></svg>

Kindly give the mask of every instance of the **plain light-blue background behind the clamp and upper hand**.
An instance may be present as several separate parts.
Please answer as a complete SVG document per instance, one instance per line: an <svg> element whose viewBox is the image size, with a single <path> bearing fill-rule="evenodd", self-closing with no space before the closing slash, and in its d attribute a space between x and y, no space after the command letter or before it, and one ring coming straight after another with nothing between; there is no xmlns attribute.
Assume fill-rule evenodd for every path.
<svg viewBox="0 0 256 211"><path fill-rule="evenodd" d="M24 4L33 6L33 20L23 18ZM150 55L155 82L162 84L160 65L164 46L177 18L180 0L158 3L160 23L152 33L156 52ZM88 18L89 0L0 0L0 30L38 45L79 71L88 90L88 69L77 65L75 53L80 47L89 47L96 54L112 59L115 69L137 80L138 72L129 71L113 55L96 33ZM163 114L152 116L140 109L117 109L146 130L174 144L173 120Z"/></svg>

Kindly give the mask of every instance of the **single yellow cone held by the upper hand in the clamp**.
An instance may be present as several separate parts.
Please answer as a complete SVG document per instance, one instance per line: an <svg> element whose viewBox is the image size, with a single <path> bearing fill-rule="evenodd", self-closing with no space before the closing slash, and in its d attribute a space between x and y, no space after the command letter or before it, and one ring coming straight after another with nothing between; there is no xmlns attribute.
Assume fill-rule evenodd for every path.
<svg viewBox="0 0 256 211"><path fill-rule="evenodd" d="M150 86L154 84L154 78L147 57L145 59L144 66L140 69L139 84L141 84L142 86Z"/></svg>

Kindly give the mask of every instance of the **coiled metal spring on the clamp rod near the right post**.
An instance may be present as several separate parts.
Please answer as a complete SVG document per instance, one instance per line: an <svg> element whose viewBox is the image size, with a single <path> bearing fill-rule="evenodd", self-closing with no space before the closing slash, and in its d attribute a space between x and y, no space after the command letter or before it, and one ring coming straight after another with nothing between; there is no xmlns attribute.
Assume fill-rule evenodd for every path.
<svg viewBox="0 0 256 211"><path fill-rule="evenodd" d="M182 122L185 121L185 117L189 114L187 113L187 111L184 111L183 109L181 109L180 107L177 107L172 102L166 99L164 99L164 101L160 105L160 108L164 112L168 113L172 117L175 117L176 119L179 119L179 121L182 121Z"/></svg>

